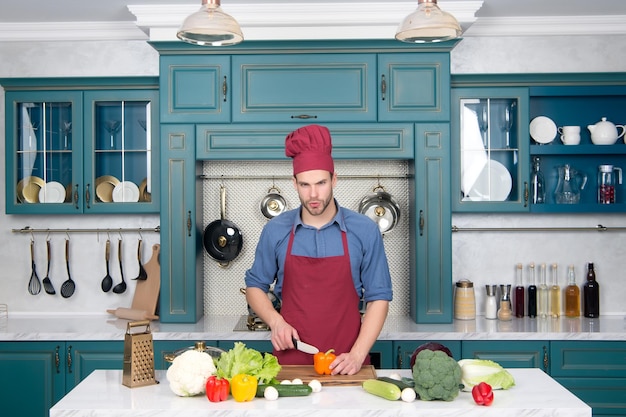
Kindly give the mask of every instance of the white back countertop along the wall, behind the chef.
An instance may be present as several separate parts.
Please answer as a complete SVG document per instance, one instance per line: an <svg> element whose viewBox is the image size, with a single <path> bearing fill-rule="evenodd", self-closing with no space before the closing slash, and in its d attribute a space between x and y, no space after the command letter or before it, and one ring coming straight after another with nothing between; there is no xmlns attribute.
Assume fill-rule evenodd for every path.
<svg viewBox="0 0 626 417"><path fill-rule="evenodd" d="M206 316L197 323L151 323L154 340L269 340L265 331L233 331L241 316ZM111 315L9 315L0 321L0 341L124 340L128 320ZM416 324L409 317L389 316L379 340L598 340L626 341L626 317L557 319L514 318L512 321L455 320Z"/></svg>

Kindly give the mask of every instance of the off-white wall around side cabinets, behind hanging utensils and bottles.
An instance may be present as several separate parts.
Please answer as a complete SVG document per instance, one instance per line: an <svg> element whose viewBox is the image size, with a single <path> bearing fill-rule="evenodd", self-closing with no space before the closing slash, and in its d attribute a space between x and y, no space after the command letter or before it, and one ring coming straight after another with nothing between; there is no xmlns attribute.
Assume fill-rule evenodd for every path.
<svg viewBox="0 0 626 417"><path fill-rule="evenodd" d="M452 51L452 72L615 72L626 71L626 36L578 37L508 37L472 38L460 42ZM0 77L118 76L158 75L158 54L147 43L132 42L15 42L0 43ZM4 114L4 95L0 114ZM615 121L619 123L624 120ZM4 137L4 117L0 117L0 137ZM4 159L4 140L0 160ZM77 281L76 294L70 299L47 294L31 296L27 292L30 276L29 235L11 232L26 225L37 228L153 227L158 216L7 216L4 214L4 171L0 172L0 303L12 312L73 311L101 313L107 308L128 306L132 291L123 296L104 294L99 282L104 276L104 240L106 236L72 235L72 275ZM553 226L580 225L626 226L626 214L609 216L524 216L524 215L455 215L457 226ZM114 242L117 236L111 236ZM130 253L136 250L138 236L129 236L125 258L127 275L136 266ZM56 251L51 277L57 288L66 279L61 262L64 235L54 235ZM144 235L144 261L149 256L155 234ZM517 262L527 265L557 262L565 285L566 265L574 263L579 282L587 261L596 263L602 286L603 314L624 314L621 300L626 296L623 275L626 270L624 234L618 232L580 233L478 233L453 235L453 279L469 278L477 287L479 313L482 311L484 284L512 283ZM40 278L45 273L45 236L36 236ZM126 254L128 253L128 255ZM131 258L131 259L129 259ZM125 262L126 264L126 262ZM119 279L113 268L114 278Z"/></svg>

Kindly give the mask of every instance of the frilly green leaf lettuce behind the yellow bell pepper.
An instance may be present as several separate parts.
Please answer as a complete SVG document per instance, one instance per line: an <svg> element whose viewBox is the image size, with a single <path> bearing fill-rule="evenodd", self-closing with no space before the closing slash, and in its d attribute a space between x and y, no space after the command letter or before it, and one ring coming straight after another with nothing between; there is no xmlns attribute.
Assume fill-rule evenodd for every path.
<svg viewBox="0 0 626 417"><path fill-rule="evenodd" d="M261 354L258 350L247 348L242 342L220 355L216 362L217 376L230 379L237 374L256 377L259 384L267 384L280 372L278 358L271 353Z"/></svg>

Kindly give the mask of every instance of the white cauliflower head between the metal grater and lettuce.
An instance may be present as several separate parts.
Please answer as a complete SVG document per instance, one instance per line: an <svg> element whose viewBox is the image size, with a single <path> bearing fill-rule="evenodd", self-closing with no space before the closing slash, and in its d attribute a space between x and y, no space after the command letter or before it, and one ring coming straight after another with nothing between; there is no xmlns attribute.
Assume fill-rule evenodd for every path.
<svg viewBox="0 0 626 417"><path fill-rule="evenodd" d="M215 363L211 355L198 350L188 350L174 358L166 376L174 394L191 397L205 393L206 380L215 372Z"/></svg>

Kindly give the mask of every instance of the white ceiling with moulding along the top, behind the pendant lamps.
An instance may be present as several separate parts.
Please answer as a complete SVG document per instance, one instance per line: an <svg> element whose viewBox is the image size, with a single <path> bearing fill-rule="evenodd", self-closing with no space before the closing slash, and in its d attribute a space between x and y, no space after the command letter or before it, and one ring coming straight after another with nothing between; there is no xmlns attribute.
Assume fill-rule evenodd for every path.
<svg viewBox="0 0 626 417"><path fill-rule="evenodd" d="M465 37L626 33L624 0L438 3L461 22ZM0 0L0 41L165 40L173 38L180 22L200 4L201 0ZM246 39L392 38L393 27L416 6L417 0L222 0L222 8L239 21ZM320 28L332 35L320 34L324 33Z"/></svg>

